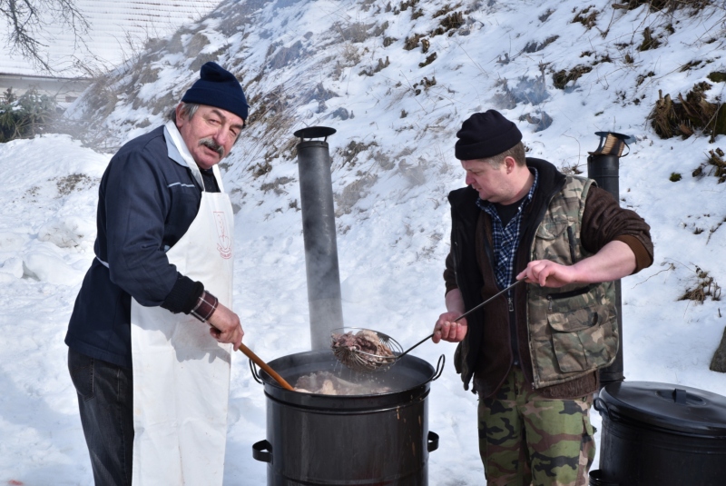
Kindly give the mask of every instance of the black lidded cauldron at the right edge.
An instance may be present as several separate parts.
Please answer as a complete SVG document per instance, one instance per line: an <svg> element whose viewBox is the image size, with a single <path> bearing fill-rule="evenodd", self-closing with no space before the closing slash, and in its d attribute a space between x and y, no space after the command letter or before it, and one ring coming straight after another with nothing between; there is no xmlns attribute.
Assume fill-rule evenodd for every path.
<svg viewBox="0 0 726 486"><path fill-rule="evenodd" d="M656 382L613 382L603 417L600 469L591 486L726 484L726 397Z"/></svg>

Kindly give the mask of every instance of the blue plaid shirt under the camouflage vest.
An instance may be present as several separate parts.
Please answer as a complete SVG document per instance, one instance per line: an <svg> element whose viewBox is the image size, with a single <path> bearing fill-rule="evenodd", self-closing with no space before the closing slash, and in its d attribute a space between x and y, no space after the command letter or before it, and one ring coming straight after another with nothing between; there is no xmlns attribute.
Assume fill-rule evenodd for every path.
<svg viewBox="0 0 726 486"><path fill-rule="evenodd" d="M535 174L535 182L532 183L532 187L529 189L529 193L522 200L517 208L516 215L513 217L506 227L502 224L502 220L499 218L499 213L496 212L496 207L493 203L478 199L476 205L479 209L486 211L492 217L492 237L494 238L494 256L495 256L495 277L496 285L500 289L504 289L513 282L515 277L515 254L517 248L519 248L519 229L522 225L522 212L525 209L525 205L532 201L532 196L535 193L537 182L539 180L539 174L533 167L529 168L533 174Z"/></svg>

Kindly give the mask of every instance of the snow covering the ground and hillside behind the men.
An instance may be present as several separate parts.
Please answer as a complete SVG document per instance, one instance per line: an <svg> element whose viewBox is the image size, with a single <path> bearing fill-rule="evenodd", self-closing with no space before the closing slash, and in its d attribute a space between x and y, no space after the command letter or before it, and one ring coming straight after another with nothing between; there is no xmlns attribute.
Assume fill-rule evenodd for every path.
<svg viewBox="0 0 726 486"><path fill-rule="evenodd" d="M594 132L635 137L621 159L621 203L651 224L655 262L623 279L626 379L726 395L726 375L709 371L726 308L721 312L721 302L711 297L703 303L679 300L697 285L701 272L715 284L726 282L726 228L721 228L726 184L711 175L692 177L709 150L726 150L726 136L711 144L703 135L663 140L645 119L659 90L675 98L711 72L726 71L722 6L712 7L709 15L677 11L669 16L645 7L616 10L598 0L589 11L598 12L594 26L587 28L573 22L585 8L574 0L460 6L431 0L405 11L371 0L252 4L221 6L224 11L251 5L240 17L245 24L231 28L221 15L199 28L210 39L202 54L226 46L218 61L244 71L248 94L257 97L253 109L269 106L269 98L260 94L282 86L284 109L294 121L280 133L272 120L261 118L242 134L223 167L225 186L239 208L234 308L245 342L263 360L309 349L297 166L294 152L265 158L270 146L294 144L292 132L306 125L338 130L329 144L345 323L387 332L407 347L427 336L444 310L446 194L464 183L453 156L454 134L469 114L496 107L518 121L531 155L584 173L587 152L599 142ZM451 9L437 15L447 5ZM426 37L427 53L420 43L403 48L408 36L431 33L453 12L465 19L453 35ZM384 24L385 32L371 34ZM368 36L356 39L353 26ZM645 26L661 44L639 51ZM386 45L385 37L397 40ZM182 41L189 39L182 36ZM276 57L298 42L298 61ZM419 67L433 52L436 60ZM374 73L378 59L387 57L389 64ZM696 60L702 62L682 70ZM578 64L592 70L564 90L555 88L553 73ZM152 67L156 78L135 88L146 103L134 107L133 96L120 91L113 113L99 122L121 141L160 124L162 114L146 110L146 104L170 91L181 94L196 77L179 55L160 55ZM367 68L372 75L360 74ZM536 81L541 69L544 89ZM258 73L263 75L250 82ZM119 85L127 82L118 79ZM318 84L329 94L318 92L305 102L303 94ZM708 99L723 96L726 84L711 84ZM507 99L515 103L505 104ZM83 113L83 105L76 110ZM552 124L536 131L526 115L532 120L544 113ZM143 120L151 124L144 127ZM265 138L267 133L275 136ZM0 194L2 483L93 483L65 366L64 334L93 259L97 183L110 157L63 134L0 145L5 179ZM265 164L267 172L259 171ZM672 182L673 173L682 180ZM431 384L429 428L440 442L429 458L429 480L481 484L476 397L463 390L453 370L454 349L427 342L413 352L431 363L442 353L448 359L441 378ZM264 484L266 465L252 459L251 444L265 438L265 398L241 353L232 361L230 403L225 484ZM600 427L596 413L593 422Z"/></svg>

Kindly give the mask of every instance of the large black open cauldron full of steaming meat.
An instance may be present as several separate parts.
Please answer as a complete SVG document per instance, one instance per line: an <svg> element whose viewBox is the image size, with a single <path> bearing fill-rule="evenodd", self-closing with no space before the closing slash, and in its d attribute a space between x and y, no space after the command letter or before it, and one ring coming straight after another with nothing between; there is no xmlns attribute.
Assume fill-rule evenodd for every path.
<svg viewBox="0 0 726 486"><path fill-rule="evenodd" d="M311 372L340 373L358 382L329 350L299 352L269 363L293 384ZM267 439L252 446L258 461L268 462L268 486L427 485L428 452L438 436L428 431L429 383L443 372L404 356L375 379L391 391L337 396L289 392L267 373L253 369L267 396Z"/></svg>

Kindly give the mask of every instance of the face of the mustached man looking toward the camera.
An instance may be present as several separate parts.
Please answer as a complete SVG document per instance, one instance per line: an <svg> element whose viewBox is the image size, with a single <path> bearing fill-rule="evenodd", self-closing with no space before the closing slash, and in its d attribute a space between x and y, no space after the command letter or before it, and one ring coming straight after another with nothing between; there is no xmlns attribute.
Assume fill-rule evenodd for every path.
<svg viewBox="0 0 726 486"><path fill-rule="evenodd" d="M201 104L197 112L187 118L181 113L180 106L176 108L176 126L194 162L201 169L219 164L230 154L244 121L236 114L206 104Z"/></svg>

